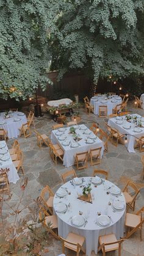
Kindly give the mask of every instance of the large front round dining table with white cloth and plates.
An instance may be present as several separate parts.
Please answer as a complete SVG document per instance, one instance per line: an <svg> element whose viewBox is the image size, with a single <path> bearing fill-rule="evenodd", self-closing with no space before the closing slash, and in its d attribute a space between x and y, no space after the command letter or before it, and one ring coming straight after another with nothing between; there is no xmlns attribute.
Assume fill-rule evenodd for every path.
<svg viewBox="0 0 144 256"><path fill-rule="evenodd" d="M90 185L91 201L79 199L85 186ZM86 255L98 253L100 235L115 233L123 236L126 202L121 190L99 177L74 178L63 184L54 196L54 213L58 232L67 238L69 232L85 237Z"/></svg>

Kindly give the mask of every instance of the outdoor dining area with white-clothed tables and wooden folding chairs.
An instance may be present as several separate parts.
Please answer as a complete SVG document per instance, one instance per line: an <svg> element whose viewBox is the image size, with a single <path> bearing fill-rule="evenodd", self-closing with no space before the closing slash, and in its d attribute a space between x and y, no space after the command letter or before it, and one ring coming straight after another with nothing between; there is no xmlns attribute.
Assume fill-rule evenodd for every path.
<svg viewBox="0 0 144 256"><path fill-rule="evenodd" d="M35 153L45 152L59 176L54 191L43 181L45 186L36 192L40 223L61 244L57 255L115 255L118 251L120 256L124 242L131 241L135 233L139 241L143 240L144 207L143 201L139 203L143 186L131 179L131 173L124 184L119 184L113 178L117 164L109 168L110 159L118 154L123 161L132 159L130 153L139 154L139 180L143 184L144 116L141 109L130 108L127 103L128 95L109 93L106 98L98 94L90 101L85 97L81 109L84 122L70 120L63 125L52 121L47 133L37 125L41 121L32 111L27 117L17 109L1 112L0 191L10 193L10 184L16 185L27 175L25 166L31 163L24 156L23 145L31 138ZM35 161L44 166L43 158ZM46 179L49 181L49 173Z"/></svg>

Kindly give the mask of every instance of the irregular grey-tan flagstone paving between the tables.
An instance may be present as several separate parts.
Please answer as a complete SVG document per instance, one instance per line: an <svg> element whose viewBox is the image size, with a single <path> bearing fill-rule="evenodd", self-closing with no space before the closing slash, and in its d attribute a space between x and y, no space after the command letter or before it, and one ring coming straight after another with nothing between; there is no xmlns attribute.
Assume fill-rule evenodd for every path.
<svg viewBox="0 0 144 256"><path fill-rule="evenodd" d="M129 104L128 110L144 116L144 111L142 109L132 108L132 104ZM85 123L90 127L93 122L98 122L99 126L104 128L104 119L99 119L94 114L85 114L84 109L80 110L80 114L82 117L81 123ZM51 120L49 114L45 114L43 117L35 119L35 128L41 134L49 134L53 124L54 121ZM56 192L59 186L62 185L61 174L70 169L63 167L61 162L59 162L57 166L54 165L51 158L49 157L49 148L43 146L43 148L40 150L40 148L37 146L37 141L33 131L34 128L32 128L31 137L28 137L27 139L24 139L24 137L18 138L20 147L24 152L24 172L29 180L24 199L21 202L21 207L25 207L27 205L32 207L32 205L34 205L34 199L40 195L40 191L45 187L45 185L49 185L53 191ZM11 147L12 143L13 140L9 140L9 148ZM144 202L144 181L142 181L142 164L140 161L141 155L143 155L143 153L140 153L139 150L136 150L135 153L129 153L124 145L118 144L118 147L115 147L109 142L108 153L104 153L101 164L93 167L91 167L89 164L87 169L79 171L76 170L76 167L74 167L74 169L76 170L77 177L90 176L93 173L93 169L99 168L108 170L109 180L118 185L121 189L129 179L139 183L141 191L136 204L136 208L139 209L143 206ZM20 177L23 178L21 172ZM10 184L10 191L13 194L12 199L10 199L9 202L10 205L15 205L18 201L21 193L20 183L21 180L18 181L16 185ZM12 221L12 217L7 218L9 214L9 208L7 205L4 205L3 210L4 218L7 219L7 221ZM22 211L21 217L31 219L31 214L26 209ZM62 246L60 241L52 239L52 244L49 246L49 252L45 255L56 256L61 253ZM75 254L74 252L68 250L66 255L72 256ZM95 255L94 252L92 252L92 255ZM99 253L98 255L102 254ZM117 255L117 252L110 252L107 255ZM144 255L144 243L140 242L139 232L132 235L129 240L124 241L121 255Z"/></svg>

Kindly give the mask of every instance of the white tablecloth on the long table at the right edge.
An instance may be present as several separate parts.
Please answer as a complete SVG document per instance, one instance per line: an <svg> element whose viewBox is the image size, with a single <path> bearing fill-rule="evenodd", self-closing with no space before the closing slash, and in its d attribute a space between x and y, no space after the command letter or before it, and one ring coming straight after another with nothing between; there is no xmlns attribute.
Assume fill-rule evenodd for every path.
<svg viewBox="0 0 144 256"><path fill-rule="evenodd" d="M141 116L138 115L138 114L132 114L132 116L134 117L135 115L137 115L138 118L140 118ZM108 125L112 128L116 128L121 134L128 134L127 136L127 139L128 139L128 142L125 144L126 147L128 148L128 152L130 153L135 153L135 150L134 150L134 142L135 142L135 138L139 138L139 137L142 137L144 136L144 128L140 128L142 131L140 133L136 133L134 131L134 123L129 123L126 121L126 118L125 118L125 115L121 118L123 120L123 123L121 125L119 125L117 123L117 118L114 117L112 119L109 119L109 122L108 122ZM143 126L144 126L144 119L142 118L143 120ZM131 128L130 129L124 129L123 126L125 125L131 125ZM125 139L125 136L124 136L124 139Z"/></svg>

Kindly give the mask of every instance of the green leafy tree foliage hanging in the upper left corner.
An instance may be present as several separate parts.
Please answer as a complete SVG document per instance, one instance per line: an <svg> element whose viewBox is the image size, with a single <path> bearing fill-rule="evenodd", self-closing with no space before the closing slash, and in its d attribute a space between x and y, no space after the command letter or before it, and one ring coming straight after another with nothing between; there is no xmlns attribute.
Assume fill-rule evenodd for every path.
<svg viewBox="0 0 144 256"><path fill-rule="evenodd" d="M0 98L25 99L49 81L48 15L51 0L0 3Z"/></svg>

